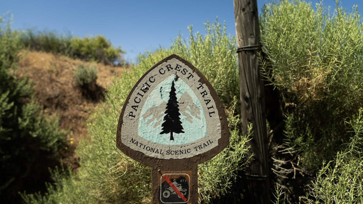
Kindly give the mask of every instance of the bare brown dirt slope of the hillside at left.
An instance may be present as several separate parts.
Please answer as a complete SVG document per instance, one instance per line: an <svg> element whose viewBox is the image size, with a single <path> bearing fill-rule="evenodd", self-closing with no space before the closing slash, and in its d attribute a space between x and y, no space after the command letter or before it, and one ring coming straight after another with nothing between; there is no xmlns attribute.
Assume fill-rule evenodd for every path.
<svg viewBox="0 0 363 204"><path fill-rule="evenodd" d="M100 93L106 86L111 85L114 74L121 76L124 70L121 67L73 60L44 52L26 52L17 69L18 77L27 76L33 83L34 99L44 107L44 112L50 115L59 113L60 128L70 130L67 138L70 148L62 157L64 163L68 163L73 169L78 167L78 158L73 155L78 139L88 134L85 121L102 100L102 97L92 100L82 95L82 90L74 78L74 71L79 65L87 68L95 66Z"/></svg>

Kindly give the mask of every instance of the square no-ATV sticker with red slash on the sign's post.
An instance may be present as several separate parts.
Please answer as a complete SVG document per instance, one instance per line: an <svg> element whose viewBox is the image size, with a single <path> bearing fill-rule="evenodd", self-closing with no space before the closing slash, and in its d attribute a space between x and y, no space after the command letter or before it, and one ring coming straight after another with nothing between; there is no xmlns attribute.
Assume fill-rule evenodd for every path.
<svg viewBox="0 0 363 204"><path fill-rule="evenodd" d="M189 175L191 171L162 172L159 175L159 203L191 203Z"/></svg>

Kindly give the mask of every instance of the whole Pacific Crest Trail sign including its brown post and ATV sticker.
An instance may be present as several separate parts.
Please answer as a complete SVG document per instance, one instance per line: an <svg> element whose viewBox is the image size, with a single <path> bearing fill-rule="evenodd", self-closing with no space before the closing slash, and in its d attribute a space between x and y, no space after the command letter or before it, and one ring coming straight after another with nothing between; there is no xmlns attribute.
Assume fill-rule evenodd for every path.
<svg viewBox="0 0 363 204"><path fill-rule="evenodd" d="M117 127L117 147L152 167L153 204L196 203L197 164L228 143L227 119L215 90L175 54L135 84Z"/></svg>

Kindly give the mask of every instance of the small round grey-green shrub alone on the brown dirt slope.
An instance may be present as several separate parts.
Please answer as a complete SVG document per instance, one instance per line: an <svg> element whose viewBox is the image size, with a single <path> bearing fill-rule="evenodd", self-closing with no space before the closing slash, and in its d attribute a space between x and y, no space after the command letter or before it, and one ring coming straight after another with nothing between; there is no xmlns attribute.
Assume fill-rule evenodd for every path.
<svg viewBox="0 0 363 204"><path fill-rule="evenodd" d="M90 68L86 69L83 65L79 65L74 72L74 78L79 86L88 85L90 83L96 83L97 71L92 65Z"/></svg>

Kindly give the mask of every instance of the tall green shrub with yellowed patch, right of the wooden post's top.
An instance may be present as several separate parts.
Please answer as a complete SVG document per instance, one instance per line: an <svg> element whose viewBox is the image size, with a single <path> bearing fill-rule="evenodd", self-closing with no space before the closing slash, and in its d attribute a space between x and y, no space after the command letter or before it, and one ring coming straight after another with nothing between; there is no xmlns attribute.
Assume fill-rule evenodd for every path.
<svg viewBox="0 0 363 204"><path fill-rule="evenodd" d="M353 136L346 124L363 103L362 19L304 1L265 5L260 18L265 76L285 104L286 145L318 170Z"/></svg>

